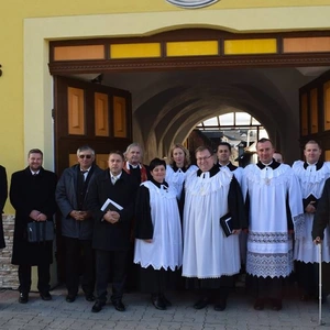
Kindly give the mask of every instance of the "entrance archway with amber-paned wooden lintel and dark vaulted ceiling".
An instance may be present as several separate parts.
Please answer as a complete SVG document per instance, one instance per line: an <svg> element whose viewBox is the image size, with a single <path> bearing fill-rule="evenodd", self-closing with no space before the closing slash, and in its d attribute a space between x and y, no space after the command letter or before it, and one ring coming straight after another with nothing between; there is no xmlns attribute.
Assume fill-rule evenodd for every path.
<svg viewBox="0 0 330 330"><path fill-rule="evenodd" d="M90 40L72 45L54 42L51 73L87 80L101 76L99 82L129 90L133 140L144 146L145 161L166 155L170 144L183 142L198 122L230 109L249 112L262 122L288 162L299 157L298 89L314 77L294 65L309 65L310 50L293 47L297 34L256 37L207 29L194 32L194 36L191 30L178 30L143 40ZM312 45L315 38L324 36L301 33L300 37ZM99 58L65 61L73 47L85 50L86 58L91 56L87 50L98 50ZM330 63L327 53L330 48L318 54L315 63Z"/></svg>

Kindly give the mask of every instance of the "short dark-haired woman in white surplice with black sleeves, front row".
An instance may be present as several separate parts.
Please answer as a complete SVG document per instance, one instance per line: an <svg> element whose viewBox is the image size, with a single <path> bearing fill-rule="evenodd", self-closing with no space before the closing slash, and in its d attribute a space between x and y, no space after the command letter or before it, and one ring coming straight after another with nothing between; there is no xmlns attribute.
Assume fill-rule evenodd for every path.
<svg viewBox="0 0 330 330"><path fill-rule="evenodd" d="M150 163L152 179L141 184L135 205L134 263L141 266L141 290L152 294L162 310L172 305L164 294L183 264L177 191L165 182L165 168L163 160Z"/></svg>

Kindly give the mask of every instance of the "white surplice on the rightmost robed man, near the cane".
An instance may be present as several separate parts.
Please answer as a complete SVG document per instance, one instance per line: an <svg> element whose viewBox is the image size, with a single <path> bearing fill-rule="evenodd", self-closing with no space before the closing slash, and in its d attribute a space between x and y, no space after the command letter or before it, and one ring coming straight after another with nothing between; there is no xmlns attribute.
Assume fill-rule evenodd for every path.
<svg viewBox="0 0 330 330"><path fill-rule="evenodd" d="M317 199L321 198L324 183L330 177L330 162L324 162L322 167L317 169L317 165L308 165L304 168L305 162L297 161L293 165L295 175L300 183L302 198L307 199L309 195L314 195ZM318 246L312 242L311 229L314 215L304 213L305 227L304 234L295 241L294 257L304 263L319 262ZM329 246L329 227L324 230L323 246ZM330 262L330 249L322 249L322 261Z"/></svg>

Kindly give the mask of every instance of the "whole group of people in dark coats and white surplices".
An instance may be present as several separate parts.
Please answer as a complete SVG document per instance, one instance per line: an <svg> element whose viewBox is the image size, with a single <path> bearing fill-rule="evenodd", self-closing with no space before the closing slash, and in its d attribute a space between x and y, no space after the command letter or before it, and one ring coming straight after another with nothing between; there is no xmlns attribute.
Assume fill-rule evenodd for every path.
<svg viewBox="0 0 330 330"><path fill-rule="evenodd" d="M110 152L108 168L100 169L95 151L81 146L78 163L57 182L54 173L42 167L42 151L31 150L28 167L12 175L10 186L19 301L29 300L32 265L37 265L41 298L52 299L53 243L29 242L26 224L53 221L57 207L65 244L66 301L77 298L82 274L81 289L86 300L95 301L92 312L106 306L109 283L113 307L125 310L128 276L139 279L139 289L151 295L157 309L172 305L167 289L183 288L184 278L184 287L198 294L194 308L213 304L221 311L242 264L256 310L268 302L273 310L282 309L284 279L294 271L301 299L312 298L317 244L322 241L322 261L330 263L330 163L320 161L321 148L315 141L305 145L305 161L293 167L275 161L268 139L257 142L256 152L257 164L241 168L230 162L229 143L221 142L217 153L200 146L196 166L187 148L175 144L168 164L154 158L146 166L141 146L133 143L124 154ZM7 194L7 178L1 175L0 180Z"/></svg>

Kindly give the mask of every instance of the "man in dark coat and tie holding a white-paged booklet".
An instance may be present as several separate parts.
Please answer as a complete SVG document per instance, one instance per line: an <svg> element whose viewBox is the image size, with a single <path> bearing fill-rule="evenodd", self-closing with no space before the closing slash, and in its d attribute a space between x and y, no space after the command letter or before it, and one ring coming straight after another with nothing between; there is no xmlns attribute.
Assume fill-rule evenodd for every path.
<svg viewBox="0 0 330 330"><path fill-rule="evenodd" d="M92 248L96 250L97 301L91 311L98 312L107 301L107 287L112 272L111 301L119 311L124 311L122 302L130 251L130 230L134 213L134 200L139 183L134 176L122 170L123 154L109 154L109 168L90 183L87 206L95 219ZM116 206L106 206L106 201Z"/></svg>

